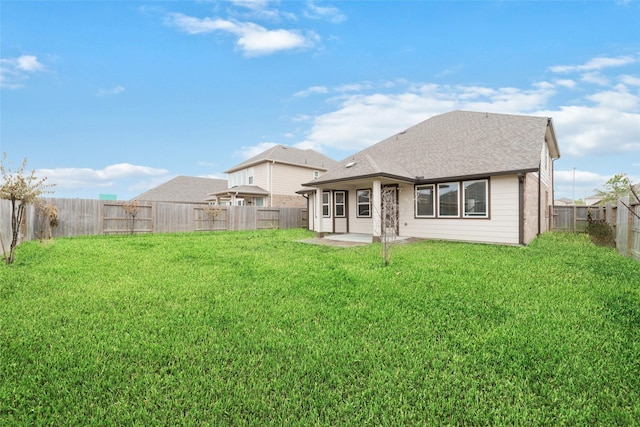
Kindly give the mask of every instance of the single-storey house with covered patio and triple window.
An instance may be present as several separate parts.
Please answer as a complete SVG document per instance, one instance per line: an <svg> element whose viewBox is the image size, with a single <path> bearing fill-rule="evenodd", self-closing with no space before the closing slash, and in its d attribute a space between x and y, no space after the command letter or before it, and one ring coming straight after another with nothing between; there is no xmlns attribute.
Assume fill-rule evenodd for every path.
<svg viewBox="0 0 640 427"><path fill-rule="evenodd" d="M431 117L304 182L309 228L379 241L381 194L395 194L399 236L527 244L549 227L553 123L453 111Z"/></svg>

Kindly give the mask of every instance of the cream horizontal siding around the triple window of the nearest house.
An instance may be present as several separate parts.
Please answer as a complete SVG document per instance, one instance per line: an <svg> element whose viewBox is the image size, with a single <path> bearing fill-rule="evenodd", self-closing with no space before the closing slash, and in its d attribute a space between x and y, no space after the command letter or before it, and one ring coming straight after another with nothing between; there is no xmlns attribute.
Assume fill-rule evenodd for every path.
<svg viewBox="0 0 640 427"><path fill-rule="evenodd" d="M518 177L493 177L489 184L490 219L415 218L414 189L400 193L400 235L427 239L518 244Z"/></svg>

